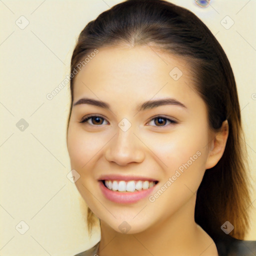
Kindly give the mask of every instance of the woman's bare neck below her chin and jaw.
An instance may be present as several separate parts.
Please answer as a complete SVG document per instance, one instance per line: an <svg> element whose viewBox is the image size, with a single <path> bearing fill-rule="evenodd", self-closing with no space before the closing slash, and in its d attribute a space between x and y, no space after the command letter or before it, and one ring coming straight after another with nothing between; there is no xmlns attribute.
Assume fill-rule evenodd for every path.
<svg viewBox="0 0 256 256"><path fill-rule="evenodd" d="M99 256L214 255L210 236L194 222L195 196L171 216L138 233L120 233L100 220Z"/></svg>

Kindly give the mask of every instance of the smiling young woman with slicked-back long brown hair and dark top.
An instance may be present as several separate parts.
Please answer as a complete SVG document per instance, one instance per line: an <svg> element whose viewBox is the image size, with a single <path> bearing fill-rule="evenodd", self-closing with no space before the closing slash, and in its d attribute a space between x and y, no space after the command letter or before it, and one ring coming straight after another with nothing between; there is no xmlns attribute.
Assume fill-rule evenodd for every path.
<svg viewBox="0 0 256 256"><path fill-rule="evenodd" d="M67 148L101 239L78 255L254 255L228 59L189 10L127 0L71 58ZM93 222L94 221L94 222ZM254 254L253 254L254 253Z"/></svg>

